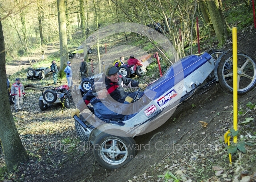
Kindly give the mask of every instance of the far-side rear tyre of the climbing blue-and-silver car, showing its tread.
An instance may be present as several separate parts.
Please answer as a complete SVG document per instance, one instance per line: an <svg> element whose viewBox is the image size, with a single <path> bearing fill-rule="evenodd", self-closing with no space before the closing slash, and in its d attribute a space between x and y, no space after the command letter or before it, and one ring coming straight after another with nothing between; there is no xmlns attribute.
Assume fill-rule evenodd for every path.
<svg viewBox="0 0 256 182"><path fill-rule="evenodd" d="M87 118L88 116L89 116L88 113L82 113L79 115L79 119L81 119L86 125L90 126L94 124L96 120L91 116L86 121L84 121L84 118ZM89 134L89 132L87 130L84 130L84 128L81 125L79 125L77 121L75 121L75 128L76 128L76 133L81 139L81 141L84 141L86 144L89 144L89 139L86 136L87 134Z"/></svg>

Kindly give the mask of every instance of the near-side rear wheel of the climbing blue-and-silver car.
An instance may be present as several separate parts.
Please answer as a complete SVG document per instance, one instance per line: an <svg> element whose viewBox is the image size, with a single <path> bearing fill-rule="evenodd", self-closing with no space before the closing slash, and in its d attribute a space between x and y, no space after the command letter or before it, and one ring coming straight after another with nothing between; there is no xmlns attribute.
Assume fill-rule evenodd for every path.
<svg viewBox="0 0 256 182"><path fill-rule="evenodd" d="M124 166L135 155L135 141L120 130L106 130L93 143L93 155L104 168L113 170Z"/></svg>

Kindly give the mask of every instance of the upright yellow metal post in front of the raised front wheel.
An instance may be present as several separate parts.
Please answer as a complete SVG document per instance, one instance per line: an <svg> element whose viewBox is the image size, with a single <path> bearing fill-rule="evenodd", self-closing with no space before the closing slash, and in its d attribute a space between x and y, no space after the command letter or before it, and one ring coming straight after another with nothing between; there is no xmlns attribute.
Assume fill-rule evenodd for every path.
<svg viewBox="0 0 256 182"><path fill-rule="evenodd" d="M234 130L237 130L237 42L236 27L232 29L233 36L233 102L234 102ZM234 143L237 142L237 136L234 136Z"/></svg>

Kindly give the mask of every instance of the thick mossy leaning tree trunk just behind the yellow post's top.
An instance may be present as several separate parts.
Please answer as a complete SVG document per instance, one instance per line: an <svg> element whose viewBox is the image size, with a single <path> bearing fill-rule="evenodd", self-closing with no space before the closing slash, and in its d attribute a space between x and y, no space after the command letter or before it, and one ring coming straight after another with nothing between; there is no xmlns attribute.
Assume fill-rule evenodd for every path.
<svg viewBox="0 0 256 182"><path fill-rule="evenodd" d="M207 5L209 13L211 15L212 24L219 41L219 45L222 46L225 43L225 40L231 35L231 31L228 27L225 17L221 10L218 0L207 0Z"/></svg>

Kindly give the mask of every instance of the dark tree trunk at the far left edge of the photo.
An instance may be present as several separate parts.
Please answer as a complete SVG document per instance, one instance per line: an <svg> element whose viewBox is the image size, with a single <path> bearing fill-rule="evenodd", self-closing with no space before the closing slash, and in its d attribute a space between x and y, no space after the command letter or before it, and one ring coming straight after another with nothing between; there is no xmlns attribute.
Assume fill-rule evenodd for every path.
<svg viewBox="0 0 256 182"><path fill-rule="evenodd" d="M4 48L4 34L2 30L2 23L0 22L0 63L5 65L5 48ZM11 108L9 106L8 94L6 86L5 66L0 67L0 139L4 151L4 158L7 171L17 169L21 162L25 162L28 154L22 145L19 133L12 117ZM14 169L13 169L14 168Z"/></svg>

